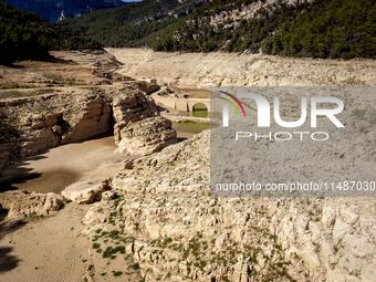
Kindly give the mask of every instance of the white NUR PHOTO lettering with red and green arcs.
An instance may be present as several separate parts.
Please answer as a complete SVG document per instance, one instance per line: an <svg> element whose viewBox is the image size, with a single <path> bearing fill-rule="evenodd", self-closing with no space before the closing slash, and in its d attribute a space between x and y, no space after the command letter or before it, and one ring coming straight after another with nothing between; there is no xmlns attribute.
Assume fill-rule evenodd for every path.
<svg viewBox="0 0 376 282"><path fill-rule="evenodd" d="M216 91L215 96L220 101L220 112L221 112L221 124L222 127L229 127L231 123L230 117L234 123L241 121L243 125L255 122L257 128L270 128L275 126L278 128L297 128L303 126L309 126L310 128L317 128L318 118L330 122L330 124L335 126L335 128L344 128L344 124L340 121L338 114L341 114L344 108L344 102L334 96L295 96L299 100L299 111L296 116L293 118L283 116L286 108L283 108L280 95L272 95L272 97L267 98L267 96L246 91ZM270 103L271 101L271 103ZM255 104L252 107L251 104ZM291 106L291 105L284 105ZM246 111L247 109L247 111ZM289 109L289 108L288 108ZM249 114L253 111L254 114ZM255 117L254 117L255 116ZM252 121L255 118L255 121ZM275 126L274 126L275 125ZM244 128L244 127L243 127ZM300 140L312 139L317 142L327 140L330 134L327 132L310 132L310 130L274 130L274 132L249 132L249 130L238 130L234 135L234 139L269 139L276 142L289 142L294 137L300 138ZM309 137L309 138L307 138Z"/></svg>

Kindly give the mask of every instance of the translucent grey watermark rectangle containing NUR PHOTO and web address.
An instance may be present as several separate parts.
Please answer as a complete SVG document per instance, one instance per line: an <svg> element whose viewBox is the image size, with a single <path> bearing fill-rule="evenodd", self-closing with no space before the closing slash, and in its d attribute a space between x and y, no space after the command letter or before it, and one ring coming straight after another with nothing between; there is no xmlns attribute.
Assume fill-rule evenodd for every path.
<svg viewBox="0 0 376 282"><path fill-rule="evenodd" d="M210 105L216 197L376 196L375 88L228 86Z"/></svg>

